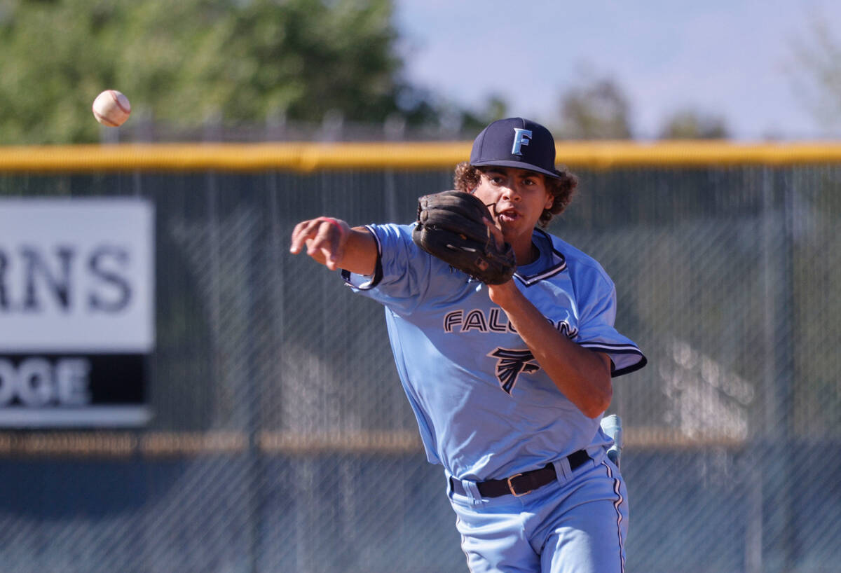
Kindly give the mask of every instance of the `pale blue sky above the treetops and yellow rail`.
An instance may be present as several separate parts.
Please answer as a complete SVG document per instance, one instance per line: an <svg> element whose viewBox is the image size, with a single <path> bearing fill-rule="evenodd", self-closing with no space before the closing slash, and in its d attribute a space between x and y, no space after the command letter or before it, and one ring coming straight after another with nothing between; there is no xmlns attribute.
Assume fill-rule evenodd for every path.
<svg viewBox="0 0 841 573"><path fill-rule="evenodd" d="M638 139L690 108L733 139L841 138L798 82L797 42L817 20L841 39L839 0L394 0L406 78L481 109L557 124L570 87L611 77Z"/></svg>

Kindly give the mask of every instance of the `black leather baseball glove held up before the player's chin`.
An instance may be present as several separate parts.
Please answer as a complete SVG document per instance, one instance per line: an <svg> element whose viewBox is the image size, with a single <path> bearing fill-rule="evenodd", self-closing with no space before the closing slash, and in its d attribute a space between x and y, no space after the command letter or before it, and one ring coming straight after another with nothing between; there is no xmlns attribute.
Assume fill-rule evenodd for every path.
<svg viewBox="0 0 841 573"><path fill-rule="evenodd" d="M482 218L493 220L478 197L461 191L425 195L418 200L412 240L430 255L489 285L510 281L514 250L500 250Z"/></svg>

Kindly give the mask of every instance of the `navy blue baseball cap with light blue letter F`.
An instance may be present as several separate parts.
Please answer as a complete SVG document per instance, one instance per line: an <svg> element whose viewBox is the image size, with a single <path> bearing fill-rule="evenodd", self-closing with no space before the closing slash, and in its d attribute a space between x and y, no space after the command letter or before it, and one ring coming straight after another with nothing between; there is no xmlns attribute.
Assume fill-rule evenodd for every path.
<svg viewBox="0 0 841 573"><path fill-rule="evenodd" d="M473 140L470 165L517 167L560 179L555 171L555 139L530 119L498 119Z"/></svg>

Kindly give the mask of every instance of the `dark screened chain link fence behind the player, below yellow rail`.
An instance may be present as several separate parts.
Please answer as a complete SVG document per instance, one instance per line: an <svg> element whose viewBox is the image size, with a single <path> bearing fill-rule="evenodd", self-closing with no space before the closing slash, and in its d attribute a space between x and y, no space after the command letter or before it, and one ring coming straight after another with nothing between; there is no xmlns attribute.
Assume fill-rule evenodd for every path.
<svg viewBox="0 0 841 573"><path fill-rule="evenodd" d="M610 409L627 570L837 570L841 166L574 171L550 231L604 265L649 359ZM382 308L288 253L301 219L410 222L451 177L0 175L0 197L156 213L154 418L0 434L0 570L466 571Z"/></svg>

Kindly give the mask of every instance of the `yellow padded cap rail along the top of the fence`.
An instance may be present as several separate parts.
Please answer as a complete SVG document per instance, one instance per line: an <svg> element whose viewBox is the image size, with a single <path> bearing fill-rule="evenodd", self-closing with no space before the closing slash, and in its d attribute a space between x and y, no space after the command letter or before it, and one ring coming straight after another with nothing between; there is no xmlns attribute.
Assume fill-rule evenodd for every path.
<svg viewBox="0 0 841 573"><path fill-rule="evenodd" d="M115 144L0 147L0 172L440 169L470 142ZM558 164L590 169L841 163L841 142L559 141Z"/></svg>

